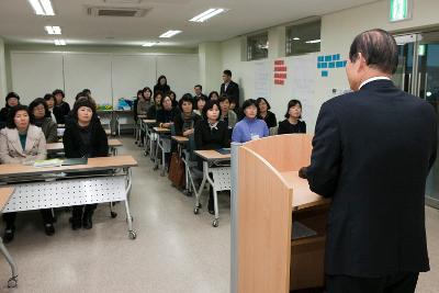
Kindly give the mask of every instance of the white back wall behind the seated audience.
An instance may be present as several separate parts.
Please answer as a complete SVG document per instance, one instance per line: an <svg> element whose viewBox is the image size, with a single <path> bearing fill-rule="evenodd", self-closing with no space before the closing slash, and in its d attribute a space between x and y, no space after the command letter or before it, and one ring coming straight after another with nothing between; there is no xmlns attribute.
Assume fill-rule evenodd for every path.
<svg viewBox="0 0 439 293"><path fill-rule="evenodd" d="M196 54L120 54L90 52L10 52L11 89L27 104L54 89L66 92L72 103L88 88L98 104L116 106L138 89L153 88L166 75L178 97L200 82Z"/></svg>

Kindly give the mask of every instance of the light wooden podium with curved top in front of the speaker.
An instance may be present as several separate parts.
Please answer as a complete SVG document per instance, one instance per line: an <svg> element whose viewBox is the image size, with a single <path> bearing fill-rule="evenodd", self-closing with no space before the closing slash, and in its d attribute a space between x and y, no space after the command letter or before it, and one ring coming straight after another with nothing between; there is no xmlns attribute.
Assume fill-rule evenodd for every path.
<svg viewBox="0 0 439 293"><path fill-rule="evenodd" d="M312 136L306 134L233 144L230 292L284 293L324 285L330 201L299 178L311 153ZM297 223L314 235L293 239Z"/></svg>

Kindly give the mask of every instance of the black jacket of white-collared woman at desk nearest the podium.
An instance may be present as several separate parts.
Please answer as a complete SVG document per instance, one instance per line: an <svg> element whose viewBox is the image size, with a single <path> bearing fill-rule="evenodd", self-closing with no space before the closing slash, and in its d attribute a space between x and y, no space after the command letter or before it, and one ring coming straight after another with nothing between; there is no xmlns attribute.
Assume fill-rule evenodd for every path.
<svg viewBox="0 0 439 293"><path fill-rule="evenodd" d="M227 123L219 121L217 129L211 129L206 120L200 120L195 125L196 149L219 149L230 146Z"/></svg>

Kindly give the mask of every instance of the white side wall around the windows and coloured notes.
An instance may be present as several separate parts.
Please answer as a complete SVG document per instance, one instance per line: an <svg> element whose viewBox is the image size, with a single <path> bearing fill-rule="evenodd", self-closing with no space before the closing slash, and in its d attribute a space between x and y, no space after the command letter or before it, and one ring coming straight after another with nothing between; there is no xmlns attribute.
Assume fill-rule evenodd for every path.
<svg viewBox="0 0 439 293"><path fill-rule="evenodd" d="M425 26L438 26L439 18L439 1L437 0L414 0L413 18L408 21L390 23L389 19L389 1L378 1L371 4L347 9L339 12L330 13L322 16L322 45L319 55L340 54L341 59L347 59L349 46L353 37L370 29L384 29L393 33L408 32L421 30ZM284 26L268 29L269 32L269 58L271 75L273 75L273 60L284 59L288 64L296 57L284 56ZM223 68L233 71L233 79L241 87L244 99L255 97L255 61L241 60L243 37L235 37L222 43L222 59ZM316 60L317 65L317 60ZM300 74L301 68L289 68L290 74ZM344 68L330 69L329 76L324 78L320 76L320 70L315 71L316 84L314 89L312 113L306 113L308 109L304 109L304 119L308 125L308 133L314 132L315 120L322 103L334 97L333 89L339 91L349 88ZM271 76L272 79L272 76ZM288 77L288 80L290 76ZM292 98L299 98L296 92L292 92L293 88L290 84L274 86L270 80L270 97L269 101L272 105L272 111L278 120L282 120L286 103Z"/></svg>

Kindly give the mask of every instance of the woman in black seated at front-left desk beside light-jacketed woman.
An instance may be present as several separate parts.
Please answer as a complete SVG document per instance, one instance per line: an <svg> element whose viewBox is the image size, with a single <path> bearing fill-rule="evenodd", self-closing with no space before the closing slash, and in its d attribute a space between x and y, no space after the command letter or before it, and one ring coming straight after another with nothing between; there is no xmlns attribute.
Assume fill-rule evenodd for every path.
<svg viewBox="0 0 439 293"><path fill-rule="evenodd" d="M72 121L66 125L63 137L66 158L95 158L109 155L109 142L95 105L88 99L78 99L72 110ZM91 229L93 212L98 204L76 205L71 214L71 228Z"/></svg>

